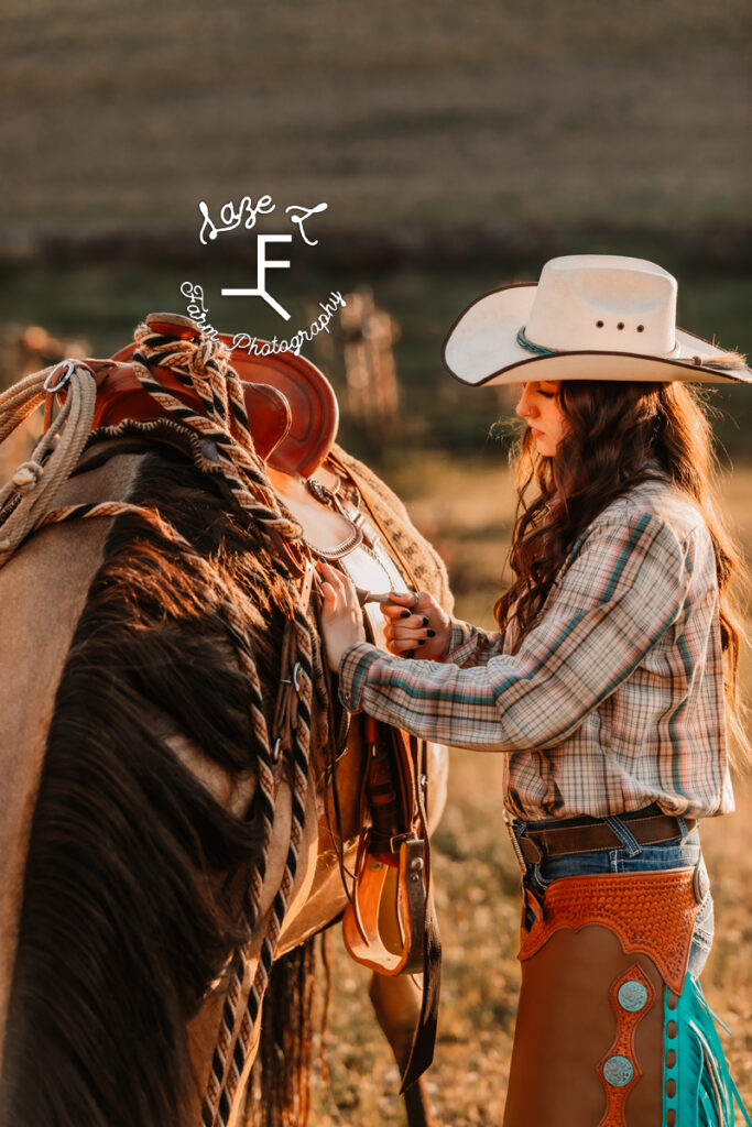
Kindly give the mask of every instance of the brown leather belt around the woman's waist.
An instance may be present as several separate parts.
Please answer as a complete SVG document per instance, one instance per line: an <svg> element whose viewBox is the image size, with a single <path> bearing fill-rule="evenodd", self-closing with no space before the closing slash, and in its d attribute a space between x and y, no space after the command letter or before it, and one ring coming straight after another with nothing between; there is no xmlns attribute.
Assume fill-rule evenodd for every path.
<svg viewBox="0 0 752 1127"><path fill-rule="evenodd" d="M683 822L688 833L697 825L695 818L684 818ZM628 818L626 825L639 845L657 845L681 837L679 818L667 814ZM520 849L525 861L538 864L545 857L623 849L623 842L607 822L594 822L584 826L546 826L539 829L529 826L520 837Z"/></svg>

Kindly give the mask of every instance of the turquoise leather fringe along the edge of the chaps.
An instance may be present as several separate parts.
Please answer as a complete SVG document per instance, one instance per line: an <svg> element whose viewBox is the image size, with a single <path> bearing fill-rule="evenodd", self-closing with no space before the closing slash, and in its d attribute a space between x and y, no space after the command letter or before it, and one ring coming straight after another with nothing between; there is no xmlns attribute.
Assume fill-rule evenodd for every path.
<svg viewBox="0 0 752 1127"><path fill-rule="evenodd" d="M674 1010L670 1010L666 991L664 1003L664 1050L673 1049L676 1059L669 1068L664 1055L663 1125L667 1115L674 1112L676 1127L734 1127L740 1122L736 1108L744 1122L752 1127L752 1119L738 1094L726 1064L720 1039L716 1031L716 1019L705 1001L702 988L696 978L687 975L684 990ZM675 997L675 995L673 995ZM676 1023L676 1036L667 1036L669 1022ZM673 1097L666 1093L667 1081L673 1080Z"/></svg>

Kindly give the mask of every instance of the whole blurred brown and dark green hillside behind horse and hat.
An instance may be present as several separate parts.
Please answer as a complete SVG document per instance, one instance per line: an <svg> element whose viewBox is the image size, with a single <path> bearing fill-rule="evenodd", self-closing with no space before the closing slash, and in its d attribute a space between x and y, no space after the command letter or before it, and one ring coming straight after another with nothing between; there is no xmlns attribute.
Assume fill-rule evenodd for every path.
<svg viewBox="0 0 752 1127"><path fill-rule="evenodd" d="M292 323L363 284L400 323L396 456L485 447L504 405L450 381L441 341L556 254L662 263L680 325L749 352L751 23L742 0L6 0L0 337L41 323L106 355L184 310L186 278L220 329L271 337L262 302L219 295L249 284L256 232L204 248L197 207L268 194L259 230L328 204L274 276ZM717 401L747 458L749 389ZM389 446L347 417L343 440Z"/></svg>

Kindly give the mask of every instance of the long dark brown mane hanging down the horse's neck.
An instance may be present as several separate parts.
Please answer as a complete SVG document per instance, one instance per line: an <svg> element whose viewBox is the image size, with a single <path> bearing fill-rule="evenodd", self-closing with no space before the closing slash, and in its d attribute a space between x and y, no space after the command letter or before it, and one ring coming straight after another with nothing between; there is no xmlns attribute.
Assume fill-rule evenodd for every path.
<svg viewBox="0 0 752 1127"><path fill-rule="evenodd" d="M56 693L25 870L3 1127L185 1127L180 1107L197 1084L186 1026L249 939L256 805L218 801L176 740L236 796L253 784L236 655L253 654L268 715L289 577L247 516L179 455L145 453L126 499L161 522L114 520Z"/></svg>

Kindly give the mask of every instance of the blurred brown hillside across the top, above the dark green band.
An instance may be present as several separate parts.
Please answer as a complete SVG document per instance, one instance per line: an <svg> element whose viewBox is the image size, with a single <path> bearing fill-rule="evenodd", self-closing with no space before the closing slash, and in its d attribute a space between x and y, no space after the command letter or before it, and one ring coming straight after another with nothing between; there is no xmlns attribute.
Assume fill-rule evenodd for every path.
<svg viewBox="0 0 752 1127"><path fill-rule="evenodd" d="M746 222L742 0L10 0L0 229ZM242 233L242 232L241 232ZM195 236L194 236L195 237Z"/></svg>

